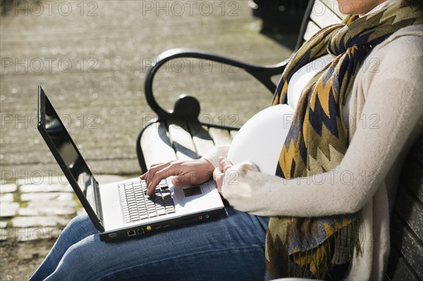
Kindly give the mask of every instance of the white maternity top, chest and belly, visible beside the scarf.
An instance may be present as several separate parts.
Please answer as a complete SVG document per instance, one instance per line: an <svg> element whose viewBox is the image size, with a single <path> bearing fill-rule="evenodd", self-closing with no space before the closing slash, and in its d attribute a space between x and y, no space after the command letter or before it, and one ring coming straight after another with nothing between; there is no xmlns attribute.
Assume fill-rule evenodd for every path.
<svg viewBox="0 0 423 281"><path fill-rule="evenodd" d="M294 73L288 85L288 104L270 106L252 116L233 138L228 151L228 159L235 165L243 161L250 161L262 173L274 175L302 89L321 68L331 61L333 61L333 56L322 56L307 63ZM343 113L347 126L350 112L349 97L350 95L345 102Z"/></svg>

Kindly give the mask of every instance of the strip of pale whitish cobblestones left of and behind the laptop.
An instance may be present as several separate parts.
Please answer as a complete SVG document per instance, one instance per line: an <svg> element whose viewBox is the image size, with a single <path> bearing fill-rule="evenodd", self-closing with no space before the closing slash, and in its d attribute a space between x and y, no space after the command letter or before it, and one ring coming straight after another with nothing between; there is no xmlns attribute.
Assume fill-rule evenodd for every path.
<svg viewBox="0 0 423 281"><path fill-rule="evenodd" d="M124 180L99 175L102 184ZM32 177L0 185L0 241L18 242L57 238L68 221L85 212L66 178Z"/></svg>

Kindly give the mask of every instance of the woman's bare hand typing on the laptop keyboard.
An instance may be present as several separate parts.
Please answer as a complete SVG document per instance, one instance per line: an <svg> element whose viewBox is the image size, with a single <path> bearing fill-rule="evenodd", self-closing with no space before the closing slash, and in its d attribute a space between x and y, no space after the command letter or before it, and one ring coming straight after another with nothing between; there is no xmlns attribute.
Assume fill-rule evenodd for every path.
<svg viewBox="0 0 423 281"><path fill-rule="evenodd" d="M173 185L200 185L212 176L214 166L205 159L192 161L171 161L152 165L149 171L140 176L147 183L147 195L152 195L159 182L172 178Z"/></svg>

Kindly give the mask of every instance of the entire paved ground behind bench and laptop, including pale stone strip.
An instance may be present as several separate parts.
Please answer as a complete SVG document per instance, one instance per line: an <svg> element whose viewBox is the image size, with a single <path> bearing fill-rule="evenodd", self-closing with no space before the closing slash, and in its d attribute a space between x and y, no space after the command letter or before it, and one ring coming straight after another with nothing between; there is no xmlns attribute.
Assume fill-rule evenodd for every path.
<svg viewBox="0 0 423 281"><path fill-rule="evenodd" d="M81 211L37 132L38 85L105 183L140 173L135 139L154 117L142 85L162 51L190 47L269 65L288 58L295 44L292 36L281 45L262 35L247 0L2 3L0 280L27 279ZM179 60L158 78L161 106L192 94L219 124L235 114L242 125L271 102L249 75L223 65Z"/></svg>

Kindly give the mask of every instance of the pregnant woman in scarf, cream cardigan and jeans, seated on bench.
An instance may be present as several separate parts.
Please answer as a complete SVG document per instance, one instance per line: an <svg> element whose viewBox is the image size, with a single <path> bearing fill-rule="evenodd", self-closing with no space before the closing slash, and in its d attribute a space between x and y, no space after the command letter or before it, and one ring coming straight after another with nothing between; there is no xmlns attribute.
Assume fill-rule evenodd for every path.
<svg viewBox="0 0 423 281"><path fill-rule="evenodd" d="M351 15L305 42L231 146L141 176L149 194L212 176L228 218L104 243L79 216L32 280L382 280L400 165L423 131L422 2L338 2Z"/></svg>

